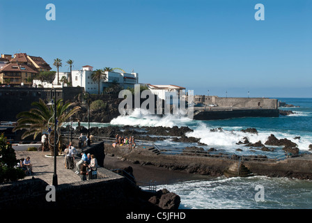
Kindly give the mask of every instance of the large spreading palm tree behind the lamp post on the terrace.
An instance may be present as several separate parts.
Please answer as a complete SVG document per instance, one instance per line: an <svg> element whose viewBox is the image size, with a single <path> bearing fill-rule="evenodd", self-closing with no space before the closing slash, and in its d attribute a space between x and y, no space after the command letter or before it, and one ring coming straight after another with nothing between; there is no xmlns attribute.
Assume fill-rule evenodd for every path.
<svg viewBox="0 0 312 223"><path fill-rule="evenodd" d="M38 102L32 102L31 105L34 107L26 112L20 112L17 114L17 125L13 128L13 132L17 130L26 130L22 134L22 139L33 135L33 139L36 139L38 134L43 131L49 132L49 148L52 154L54 154L54 134L57 134L59 140L61 140L61 134L59 134L59 128L64 122L70 119L70 116L80 110L79 106L72 107L73 103L66 103L63 105L63 99L59 99L56 102L56 132L54 132L54 106L48 106L44 100L39 98ZM69 110L69 112L68 112Z"/></svg>

